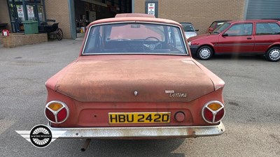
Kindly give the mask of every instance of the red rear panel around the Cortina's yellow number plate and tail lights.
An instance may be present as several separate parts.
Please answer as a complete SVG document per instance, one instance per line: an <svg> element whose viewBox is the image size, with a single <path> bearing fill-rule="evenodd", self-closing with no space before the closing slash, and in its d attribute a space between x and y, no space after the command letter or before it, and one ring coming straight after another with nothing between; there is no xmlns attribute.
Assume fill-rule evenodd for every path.
<svg viewBox="0 0 280 157"><path fill-rule="evenodd" d="M69 107L69 118L62 124L50 124L55 128L80 128L80 127L134 127L134 126L214 126L207 124L201 116L205 103L211 100L220 100L223 103L223 88L211 92L191 102L120 102L120 103L84 103L48 89L48 102L63 100ZM131 94L133 95L133 94ZM167 95L168 96L168 95ZM200 105L198 105L200 104ZM109 112L171 112L170 123L153 124L109 124ZM184 121L174 119L176 112L186 115Z"/></svg>

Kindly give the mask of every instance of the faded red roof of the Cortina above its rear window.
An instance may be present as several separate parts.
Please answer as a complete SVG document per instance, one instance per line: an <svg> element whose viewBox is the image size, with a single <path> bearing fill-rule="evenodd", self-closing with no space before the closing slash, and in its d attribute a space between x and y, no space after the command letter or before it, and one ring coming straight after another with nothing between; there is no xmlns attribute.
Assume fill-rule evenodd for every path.
<svg viewBox="0 0 280 157"><path fill-rule="evenodd" d="M110 22L156 22L156 23L164 23L164 24L175 24L179 25L179 22L175 22L173 20L167 20L162 18L155 18L151 15L141 14L141 13L128 13L124 15L116 15L116 17L106 18L102 20L96 20L91 22L88 27L94 24L103 24L103 23L110 23Z"/></svg>

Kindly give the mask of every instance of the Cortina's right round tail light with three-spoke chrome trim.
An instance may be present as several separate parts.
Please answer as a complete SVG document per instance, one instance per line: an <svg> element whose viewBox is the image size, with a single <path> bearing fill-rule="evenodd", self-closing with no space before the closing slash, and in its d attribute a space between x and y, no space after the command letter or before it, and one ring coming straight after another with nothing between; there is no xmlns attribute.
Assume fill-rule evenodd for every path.
<svg viewBox="0 0 280 157"><path fill-rule="evenodd" d="M225 106L219 101L210 101L202 108L202 117L209 124L216 124L225 116Z"/></svg>

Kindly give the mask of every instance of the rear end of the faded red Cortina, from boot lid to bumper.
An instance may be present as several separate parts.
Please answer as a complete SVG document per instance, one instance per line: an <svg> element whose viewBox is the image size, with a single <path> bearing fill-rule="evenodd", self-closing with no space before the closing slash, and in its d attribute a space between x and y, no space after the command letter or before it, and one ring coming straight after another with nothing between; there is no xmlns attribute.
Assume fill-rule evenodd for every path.
<svg viewBox="0 0 280 157"><path fill-rule="evenodd" d="M225 115L222 80L191 59L137 58L141 56L112 62L116 59L112 57L104 63L99 61L99 66L76 61L89 62L96 69L109 62L117 66L85 76L93 66L87 65L79 75L79 69L71 70L80 67L76 65L66 70L55 87L51 84L57 78L52 77L46 83L45 105L52 130L66 130L62 137L120 139L200 137L225 131L221 123ZM132 61L136 65L128 66ZM169 65L164 66L165 62ZM172 70L177 63L184 68ZM78 77L73 79L74 75Z"/></svg>

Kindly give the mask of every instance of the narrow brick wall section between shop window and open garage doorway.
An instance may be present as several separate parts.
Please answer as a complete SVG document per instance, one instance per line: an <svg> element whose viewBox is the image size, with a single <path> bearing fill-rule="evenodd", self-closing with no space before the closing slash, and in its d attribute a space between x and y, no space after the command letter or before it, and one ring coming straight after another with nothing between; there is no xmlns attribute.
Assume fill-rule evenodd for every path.
<svg viewBox="0 0 280 157"><path fill-rule="evenodd" d="M58 26L63 31L63 38L71 38L68 0L46 0L45 14L47 19L54 19L59 22ZM48 23L51 24L52 22Z"/></svg>

